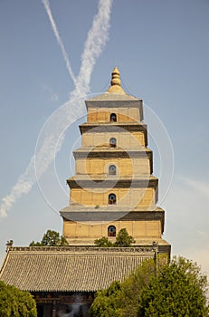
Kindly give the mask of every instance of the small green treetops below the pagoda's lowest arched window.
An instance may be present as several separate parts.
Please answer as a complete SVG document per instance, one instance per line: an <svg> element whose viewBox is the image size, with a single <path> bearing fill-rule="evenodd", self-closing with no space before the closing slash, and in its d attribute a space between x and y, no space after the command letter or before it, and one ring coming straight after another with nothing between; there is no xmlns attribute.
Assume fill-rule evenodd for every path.
<svg viewBox="0 0 209 317"><path fill-rule="evenodd" d="M103 236L100 239L97 239L94 241L94 244L100 247L128 247L131 246L132 244L134 244L135 241L133 239L133 237L131 235L128 235L127 229L123 228L121 230L119 230L119 234L116 237L116 242L112 243L111 241L109 241L109 239L105 236Z"/></svg>

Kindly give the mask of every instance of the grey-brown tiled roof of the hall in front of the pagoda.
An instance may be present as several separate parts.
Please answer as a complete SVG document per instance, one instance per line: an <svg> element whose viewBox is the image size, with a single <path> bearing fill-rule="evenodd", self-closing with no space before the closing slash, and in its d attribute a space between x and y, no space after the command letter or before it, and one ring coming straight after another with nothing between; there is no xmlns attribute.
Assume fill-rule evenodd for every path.
<svg viewBox="0 0 209 317"><path fill-rule="evenodd" d="M0 280L30 292L94 292L154 255L154 247L11 247Z"/></svg>

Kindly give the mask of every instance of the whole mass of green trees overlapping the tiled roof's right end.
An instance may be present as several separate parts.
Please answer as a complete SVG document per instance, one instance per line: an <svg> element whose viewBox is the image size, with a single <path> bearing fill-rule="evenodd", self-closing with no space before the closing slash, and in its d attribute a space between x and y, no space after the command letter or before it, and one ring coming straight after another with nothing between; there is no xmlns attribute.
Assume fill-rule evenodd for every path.
<svg viewBox="0 0 209 317"><path fill-rule="evenodd" d="M123 282L96 293L90 316L206 317L207 280L200 267L182 257L144 261Z"/></svg>

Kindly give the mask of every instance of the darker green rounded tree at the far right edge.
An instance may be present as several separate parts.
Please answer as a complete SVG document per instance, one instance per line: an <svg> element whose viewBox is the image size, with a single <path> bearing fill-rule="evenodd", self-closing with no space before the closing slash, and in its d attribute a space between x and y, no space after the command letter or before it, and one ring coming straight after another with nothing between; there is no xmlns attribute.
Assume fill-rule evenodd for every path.
<svg viewBox="0 0 209 317"><path fill-rule="evenodd" d="M206 276L200 267L175 257L140 293L138 317L207 316L206 289Z"/></svg>

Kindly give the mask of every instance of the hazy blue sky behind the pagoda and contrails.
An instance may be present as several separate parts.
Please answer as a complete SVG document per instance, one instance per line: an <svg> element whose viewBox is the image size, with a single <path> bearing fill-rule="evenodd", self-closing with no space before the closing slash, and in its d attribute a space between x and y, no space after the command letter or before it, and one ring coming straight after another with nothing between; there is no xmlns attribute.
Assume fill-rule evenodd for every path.
<svg viewBox="0 0 209 317"><path fill-rule="evenodd" d="M98 1L51 0L50 5L77 76ZM164 236L172 245L173 255L194 259L207 273L208 31L208 0L115 0L109 41L104 43L90 77L92 93L105 91L110 72L117 65L124 89L143 99L163 122L175 158L172 186L160 203L166 209ZM0 38L2 199L27 168L45 121L69 101L74 83L41 0L1 1ZM149 148L154 150L154 174L160 177L158 160L166 153L160 149L158 155L152 141L157 138L157 130L151 127L149 108L145 107L145 122L151 131ZM62 233L62 218L54 209L68 205L65 179L71 176L71 149L79 138L78 123L82 120L85 117L71 125L56 158L57 175L65 193L56 191L52 164L43 175L43 194L47 192L47 200L52 199L54 208L36 183L27 195L17 199L7 216L0 217L1 259L9 239L14 240L14 245L29 245L32 240L40 240L48 228ZM165 174L170 173L171 166L167 161ZM162 196L159 192L160 200Z"/></svg>

